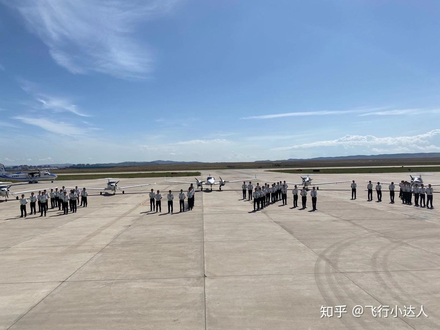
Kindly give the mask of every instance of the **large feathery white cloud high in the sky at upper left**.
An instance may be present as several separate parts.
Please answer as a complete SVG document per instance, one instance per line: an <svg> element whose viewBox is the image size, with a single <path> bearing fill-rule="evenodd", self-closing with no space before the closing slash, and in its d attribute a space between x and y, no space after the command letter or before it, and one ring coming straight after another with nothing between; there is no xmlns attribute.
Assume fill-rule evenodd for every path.
<svg viewBox="0 0 440 330"><path fill-rule="evenodd" d="M51 57L71 73L144 78L152 52L134 37L137 22L168 12L177 0L1 0L23 16Z"/></svg>

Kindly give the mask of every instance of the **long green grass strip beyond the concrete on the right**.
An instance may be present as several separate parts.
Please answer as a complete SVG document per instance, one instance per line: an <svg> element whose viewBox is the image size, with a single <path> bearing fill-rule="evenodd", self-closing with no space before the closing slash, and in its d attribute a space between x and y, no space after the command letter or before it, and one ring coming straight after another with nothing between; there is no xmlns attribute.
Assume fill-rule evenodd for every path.
<svg viewBox="0 0 440 330"><path fill-rule="evenodd" d="M319 172L313 172L311 170L297 171L296 169L279 169L279 170L269 170L267 172L279 172L279 173L295 173L295 174L313 174L313 173L323 173L323 174L345 174L345 173L413 173L414 175L420 173L430 173L430 172L440 172L440 166L432 167L364 167L364 168L354 168L354 169L326 169L326 168L316 168ZM411 169L411 171L409 171Z"/></svg>

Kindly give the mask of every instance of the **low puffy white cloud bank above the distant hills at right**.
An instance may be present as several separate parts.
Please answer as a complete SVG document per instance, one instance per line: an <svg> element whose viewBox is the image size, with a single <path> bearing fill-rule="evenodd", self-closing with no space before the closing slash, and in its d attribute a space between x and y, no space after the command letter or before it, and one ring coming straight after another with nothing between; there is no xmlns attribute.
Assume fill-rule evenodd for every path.
<svg viewBox="0 0 440 330"><path fill-rule="evenodd" d="M299 148L315 148L315 147L334 147L341 146L344 148L358 146L392 146L394 147L410 147L410 150L434 151L440 150L440 147L433 145L433 139L440 135L440 129L431 132L419 134L416 136L398 136L398 137L376 137L372 135L346 135L339 139L316 141L312 143L303 143L290 147L279 147L271 150L293 150Z"/></svg>

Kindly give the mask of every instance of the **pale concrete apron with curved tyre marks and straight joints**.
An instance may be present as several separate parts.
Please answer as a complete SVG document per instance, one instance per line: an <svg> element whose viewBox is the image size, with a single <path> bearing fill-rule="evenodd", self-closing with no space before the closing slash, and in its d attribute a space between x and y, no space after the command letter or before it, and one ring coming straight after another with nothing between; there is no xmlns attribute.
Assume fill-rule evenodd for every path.
<svg viewBox="0 0 440 330"><path fill-rule="evenodd" d="M299 178L215 172L224 180L256 174L254 185ZM430 182L440 183L434 174ZM356 180L357 199L350 200L349 183L321 186L315 212L310 195L308 209L292 209L292 186L288 205L252 212L240 182L196 192L185 213L167 214L165 199L162 213L150 212L144 201L151 186L116 195L89 191L88 207L68 215L49 209L46 217L19 218L18 201L0 202L0 330L439 329L440 194L438 208L423 209L400 204L398 192L395 204L388 192L381 203L367 202L364 191L364 180L407 178L320 174L315 182ZM127 186L144 182L157 182L152 187L164 198L169 189L188 188L163 178L121 179ZM410 304L416 314L423 305L429 317L374 317L365 307ZM321 318L321 306L338 305L346 306L341 318ZM352 315L356 305L365 309L360 317Z"/></svg>

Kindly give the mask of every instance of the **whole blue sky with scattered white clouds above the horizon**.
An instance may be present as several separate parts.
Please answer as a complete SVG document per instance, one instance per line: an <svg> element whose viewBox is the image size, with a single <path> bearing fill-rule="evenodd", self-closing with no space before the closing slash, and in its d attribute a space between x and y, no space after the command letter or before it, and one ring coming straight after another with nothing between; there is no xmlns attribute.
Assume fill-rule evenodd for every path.
<svg viewBox="0 0 440 330"><path fill-rule="evenodd" d="M5 164L440 152L438 1L0 7Z"/></svg>

